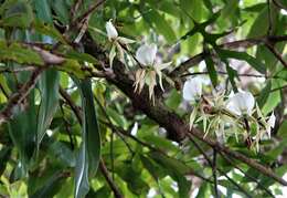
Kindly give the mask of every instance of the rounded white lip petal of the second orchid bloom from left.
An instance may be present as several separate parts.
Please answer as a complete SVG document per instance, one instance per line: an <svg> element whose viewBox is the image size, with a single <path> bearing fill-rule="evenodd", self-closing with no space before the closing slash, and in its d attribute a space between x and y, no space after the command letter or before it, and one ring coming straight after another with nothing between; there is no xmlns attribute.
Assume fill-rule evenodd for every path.
<svg viewBox="0 0 287 198"><path fill-rule="evenodd" d="M137 50L136 58L145 66L152 65L156 60L157 50L156 44L144 44Z"/></svg>

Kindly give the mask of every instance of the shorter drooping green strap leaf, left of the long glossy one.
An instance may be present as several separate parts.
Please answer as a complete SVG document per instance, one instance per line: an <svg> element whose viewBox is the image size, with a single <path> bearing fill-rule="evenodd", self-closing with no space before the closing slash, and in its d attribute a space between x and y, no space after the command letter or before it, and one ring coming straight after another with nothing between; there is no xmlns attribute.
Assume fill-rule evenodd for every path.
<svg viewBox="0 0 287 198"><path fill-rule="evenodd" d="M47 70L42 73L39 81L41 104L38 113L36 144L42 142L59 105L59 72Z"/></svg>

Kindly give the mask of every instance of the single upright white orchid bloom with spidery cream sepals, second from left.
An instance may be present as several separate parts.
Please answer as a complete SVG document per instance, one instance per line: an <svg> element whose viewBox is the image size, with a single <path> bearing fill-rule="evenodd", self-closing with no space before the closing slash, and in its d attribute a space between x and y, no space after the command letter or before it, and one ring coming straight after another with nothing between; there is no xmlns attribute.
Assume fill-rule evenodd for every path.
<svg viewBox="0 0 287 198"><path fill-rule="evenodd" d="M142 44L139 46L139 49L136 52L136 60L145 67L139 69L136 72L136 80L135 80L135 92L138 91L138 93L141 92L145 82L148 83L149 86L149 97L153 100L155 103L155 93L153 88L157 85L157 75L159 77L159 85L161 90L163 91L162 86L162 70L167 69L171 62L169 63L157 63L156 56L157 56L158 48L156 44ZM145 71L145 72L144 72Z"/></svg>

